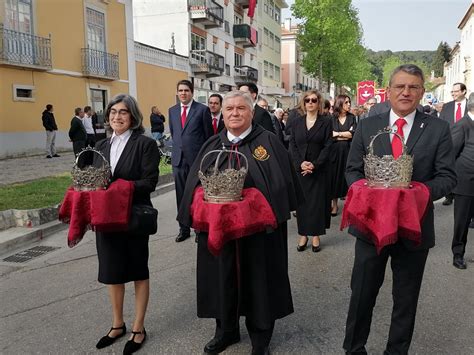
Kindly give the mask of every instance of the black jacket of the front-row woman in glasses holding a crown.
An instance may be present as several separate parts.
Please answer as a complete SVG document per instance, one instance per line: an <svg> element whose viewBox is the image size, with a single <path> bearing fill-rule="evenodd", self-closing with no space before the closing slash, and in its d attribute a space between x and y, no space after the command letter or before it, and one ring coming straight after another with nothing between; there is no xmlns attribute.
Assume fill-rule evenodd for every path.
<svg viewBox="0 0 474 355"><path fill-rule="evenodd" d="M95 148L110 161L110 138L100 140ZM101 158L95 154L94 165L98 166L101 162ZM159 163L160 154L156 141L133 132L117 162L112 181L117 179L133 181L135 185L133 204L152 206L150 194L155 191L158 183Z"/></svg>

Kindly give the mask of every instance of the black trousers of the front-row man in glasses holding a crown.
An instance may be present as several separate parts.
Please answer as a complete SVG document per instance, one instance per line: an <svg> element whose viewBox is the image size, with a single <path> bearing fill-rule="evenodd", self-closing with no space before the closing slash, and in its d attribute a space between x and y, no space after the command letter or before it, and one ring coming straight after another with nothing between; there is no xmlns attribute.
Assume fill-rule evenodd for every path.
<svg viewBox="0 0 474 355"><path fill-rule="evenodd" d="M367 353L365 344L370 333L372 311L390 257L393 310L384 354L408 354L427 256L428 249L409 251L401 242L385 247L378 255L374 245L357 239L343 345L346 353Z"/></svg>

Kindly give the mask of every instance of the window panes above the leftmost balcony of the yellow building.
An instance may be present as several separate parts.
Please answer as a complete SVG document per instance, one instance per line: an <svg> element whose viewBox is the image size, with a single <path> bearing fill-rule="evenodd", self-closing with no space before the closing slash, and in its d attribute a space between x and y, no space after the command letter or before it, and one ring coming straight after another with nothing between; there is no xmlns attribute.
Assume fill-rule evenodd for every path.
<svg viewBox="0 0 474 355"><path fill-rule="evenodd" d="M5 28L33 34L31 0L6 0Z"/></svg>

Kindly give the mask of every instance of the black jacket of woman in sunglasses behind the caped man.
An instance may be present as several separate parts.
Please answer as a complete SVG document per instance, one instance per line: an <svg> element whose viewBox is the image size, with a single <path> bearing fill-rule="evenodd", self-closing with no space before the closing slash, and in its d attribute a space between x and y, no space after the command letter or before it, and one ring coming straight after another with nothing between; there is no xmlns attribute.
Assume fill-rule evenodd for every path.
<svg viewBox="0 0 474 355"><path fill-rule="evenodd" d="M323 167L329 159L332 145L332 121L328 116L319 116L308 131L306 116L295 119L290 137L290 153L296 171L301 171L301 163L313 163L315 170Z"/></svg>

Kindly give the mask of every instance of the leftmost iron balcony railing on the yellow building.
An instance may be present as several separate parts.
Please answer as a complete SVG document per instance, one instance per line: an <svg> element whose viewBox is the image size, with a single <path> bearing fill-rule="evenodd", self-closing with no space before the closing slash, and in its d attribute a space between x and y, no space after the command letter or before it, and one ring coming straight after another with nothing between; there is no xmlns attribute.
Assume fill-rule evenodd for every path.
<svg viewBox="0 0 474 355"><path fill-rule="evenodd" d="M51 39L8 30L0 24L0 64L51 69Z"/></svg>

